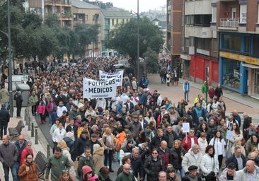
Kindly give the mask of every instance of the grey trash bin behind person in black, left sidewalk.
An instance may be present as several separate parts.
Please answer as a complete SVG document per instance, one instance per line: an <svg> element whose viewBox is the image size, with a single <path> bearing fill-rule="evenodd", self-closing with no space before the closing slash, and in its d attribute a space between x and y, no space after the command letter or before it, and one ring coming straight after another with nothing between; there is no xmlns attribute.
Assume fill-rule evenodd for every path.
<svg viewBox="0 0 259 181"><path fill-rule="evenodd" d="M27 107L30 97L30 86L26 83L16 83L13 85L13 95L16 94L16 91L21 91L23 96L23 107ZM13 99L13 106L16 106L16 100Z"/></svg>

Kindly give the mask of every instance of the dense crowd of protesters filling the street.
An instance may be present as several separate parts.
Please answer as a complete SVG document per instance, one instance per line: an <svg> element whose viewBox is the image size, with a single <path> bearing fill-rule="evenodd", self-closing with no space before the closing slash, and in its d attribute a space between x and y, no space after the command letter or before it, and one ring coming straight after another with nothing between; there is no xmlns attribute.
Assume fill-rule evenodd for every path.
<svg viewBox="0 0 259 181"><path fill-rule="evenodd" d="M202 95L193 103L185 95L173 103L149 90L146 75L136 80L129 69L113 98L83 98L83 78L98 79L99 70L115 71L113 64L117 59L84 59L58 69L42 66L29 76L32 114L50 125L54 143L46 179L51 170L52 180L110 180L114 163L121 165L116 180L156 181L163 174L167 180L259 177L258 130L246 113L243 125L236 110L226 117L222 97L212 96L207 104ZM190 132L183 132L183 124ZM61 152L66 172L54 166Z"/></svg>

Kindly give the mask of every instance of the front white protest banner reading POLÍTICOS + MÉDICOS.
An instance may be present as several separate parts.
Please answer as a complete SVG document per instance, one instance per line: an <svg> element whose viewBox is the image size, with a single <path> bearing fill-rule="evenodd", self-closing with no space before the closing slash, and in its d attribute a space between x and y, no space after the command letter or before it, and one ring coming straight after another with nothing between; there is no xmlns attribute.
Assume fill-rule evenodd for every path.
<svg viewBox="0 0 259 181"><path fill-rule="evenodd" d="M84 98L110 98L116 95L116 80L110 78L105 81L96 81L84 78Z"/></svg>

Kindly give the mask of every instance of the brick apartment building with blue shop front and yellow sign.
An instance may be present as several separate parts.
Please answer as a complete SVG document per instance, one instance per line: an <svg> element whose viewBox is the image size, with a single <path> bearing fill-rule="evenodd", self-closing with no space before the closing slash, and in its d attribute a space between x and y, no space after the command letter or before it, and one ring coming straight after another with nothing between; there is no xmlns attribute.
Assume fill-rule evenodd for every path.
<svg viewBox="0 0 259 181"><path fill-rule="evenodd" d="M259 98L259 1L217 2L219 83Z"/></svg>

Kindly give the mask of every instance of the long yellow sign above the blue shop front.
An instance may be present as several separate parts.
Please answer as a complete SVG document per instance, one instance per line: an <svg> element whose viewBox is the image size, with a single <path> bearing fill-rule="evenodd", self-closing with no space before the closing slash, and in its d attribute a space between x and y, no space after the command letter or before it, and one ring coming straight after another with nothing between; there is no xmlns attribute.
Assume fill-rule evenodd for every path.
<svg viewBox="0 0 259 181"><path fill-rule="evenodd" d="M259 65L259 59L253 58L253 57L248 57L248 56L241 55L241 54L233 54L233 53L229 53L229 52L219 52L219 56L228 58L228 59L235 59L235 60L238 60L241 62L246 62L248 64Z"/></svg>

